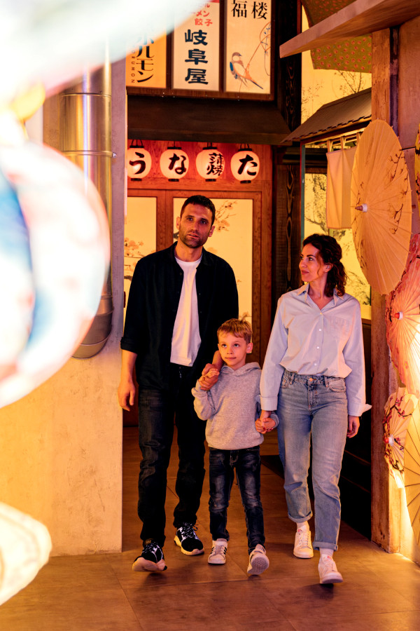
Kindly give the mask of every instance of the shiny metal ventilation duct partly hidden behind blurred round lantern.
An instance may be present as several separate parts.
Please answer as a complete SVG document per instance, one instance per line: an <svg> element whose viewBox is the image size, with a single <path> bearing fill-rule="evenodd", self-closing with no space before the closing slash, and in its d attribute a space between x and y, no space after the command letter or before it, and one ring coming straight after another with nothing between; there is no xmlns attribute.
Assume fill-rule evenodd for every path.
<svg viewBox="0 0 420 631"><path fill-rule="evenodd" d="M83 76L59 95L59 151L97 187L111 227L111 66ZM85 359L104 348L113 313L111 268L90 330L73 354Z"/></svg>

